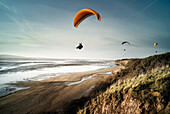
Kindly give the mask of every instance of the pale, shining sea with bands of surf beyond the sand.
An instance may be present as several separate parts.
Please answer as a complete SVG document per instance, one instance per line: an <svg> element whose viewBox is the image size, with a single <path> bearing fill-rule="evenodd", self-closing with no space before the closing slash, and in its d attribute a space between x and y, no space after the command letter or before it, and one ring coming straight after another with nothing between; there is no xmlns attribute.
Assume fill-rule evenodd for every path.
<svg viewBox="0 0 170 114"><path fill-rule="evenodd" d="M0 59L0 97L28 87L16 87L18 81L42 81L67 73L93 71L115 66L112 60L78 59Z"/></svg>

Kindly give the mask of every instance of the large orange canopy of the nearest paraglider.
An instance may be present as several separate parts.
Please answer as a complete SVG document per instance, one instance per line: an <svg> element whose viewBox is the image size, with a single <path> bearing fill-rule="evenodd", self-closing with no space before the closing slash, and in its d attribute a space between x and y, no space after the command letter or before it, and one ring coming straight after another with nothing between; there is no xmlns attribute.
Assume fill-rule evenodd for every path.
<svg viewBox="0 0 170 114"><path fill-rule="evenodd" d="M73 20L73 25L74 25L74 27L78 27L78 25L85 19L85 18L87 18L87 17L89 17L89 16L91 16L91 15L95 15L96 17L97 17L97 19L99 20L99 21L101 21L101 17L100 17L100 15L96 12L96 11L94 11L94 10L92 10L92 9L89 9L89 8L85 8L85 9L82 9L82 10L80 10L77 14L76 14L76 16L74 17L74 20Z"/></svg>

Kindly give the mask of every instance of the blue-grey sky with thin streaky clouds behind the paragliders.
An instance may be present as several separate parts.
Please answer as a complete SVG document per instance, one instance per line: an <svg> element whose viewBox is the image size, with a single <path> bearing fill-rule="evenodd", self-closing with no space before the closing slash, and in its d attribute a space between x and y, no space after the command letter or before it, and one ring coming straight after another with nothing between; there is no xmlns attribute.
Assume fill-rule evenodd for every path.
<svg viewBox="0 0 170 114"><path fill-rule="evenodd" d="M101 21L93 15L75 28L83 8ZM0 54L121 59L169 52L169 12L169 0L0 0ZM84 48L77 50L80 42Z"/></svg>

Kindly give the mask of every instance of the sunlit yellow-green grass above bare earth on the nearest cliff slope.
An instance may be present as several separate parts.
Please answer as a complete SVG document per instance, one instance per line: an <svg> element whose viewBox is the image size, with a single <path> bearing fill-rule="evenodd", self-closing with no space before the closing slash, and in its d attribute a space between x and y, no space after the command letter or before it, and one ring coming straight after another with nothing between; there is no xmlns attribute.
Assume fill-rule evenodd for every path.
<svg viewBox="0 0 170 114"><path fill-rule="evenodd" d="M166 108L169 103L170 94L170 67L163 66L155 68L146 74L141 74L126 80L118 80L117 83L111 85L104 93L101 93L96 98L87 102L83 109L78 113L93 113L95 109L103 102L109 104L113 99L116 109L123 101L123 94L130 94L134 99L138 99L141 103L149 102L155 104L159 108L155 109L157 112ZM166 100L165 100L166 99ZM162 102L161 102L162 101ZM142 107L142 105L141 105ZM150 106L153 110L155 107Z"/></svg>

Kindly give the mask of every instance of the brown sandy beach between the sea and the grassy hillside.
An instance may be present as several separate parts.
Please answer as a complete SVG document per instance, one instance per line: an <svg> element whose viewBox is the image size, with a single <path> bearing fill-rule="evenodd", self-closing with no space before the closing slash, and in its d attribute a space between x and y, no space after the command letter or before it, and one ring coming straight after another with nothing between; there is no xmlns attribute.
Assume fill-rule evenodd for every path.
<svg viewBox="0 0 170 114"><path fill-rule="evenodd" d="M0 98L0 113L62 112L69 102L87 95L96 84L114 77L122 68L122 65L118 65L89 72L63 74L39 82L19 82L17 86L30 88Z"/></svg>

